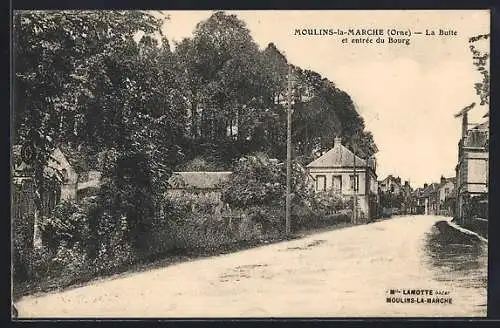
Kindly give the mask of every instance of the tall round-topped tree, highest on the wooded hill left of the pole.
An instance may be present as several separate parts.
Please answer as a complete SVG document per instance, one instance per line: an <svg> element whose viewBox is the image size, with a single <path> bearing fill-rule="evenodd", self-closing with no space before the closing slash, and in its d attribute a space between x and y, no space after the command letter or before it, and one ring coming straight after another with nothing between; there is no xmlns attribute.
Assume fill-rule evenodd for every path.
<svg viewBox="0 0 500 328"><path fill-rule="evenodd" d="M208 153L242 150L227 152L223 161L261 150L267 139L258 139L273 118L266 102L270 85L245 23L217 12L200 22L193 38L179 43L174 54L184 75L192 138Z"/></svg>

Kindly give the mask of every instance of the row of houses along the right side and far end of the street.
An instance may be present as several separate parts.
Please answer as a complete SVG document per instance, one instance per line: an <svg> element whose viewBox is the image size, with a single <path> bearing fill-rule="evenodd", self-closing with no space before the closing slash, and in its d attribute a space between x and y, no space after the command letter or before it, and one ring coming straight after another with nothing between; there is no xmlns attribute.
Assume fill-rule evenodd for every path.
<svg viewBox="0 0 500 328"><path fill-rule="evenodd" d="M463 224L477 218L488 219L489 114L483 116L482 123L470 123L468 112L474 105L455 115L462 118L455 176L441 176L439 182L413 190L411 214L452 216ZM400 180L391 176L380 183L381 189L387 191L384 184L394 193L402 189Z"/></svg>

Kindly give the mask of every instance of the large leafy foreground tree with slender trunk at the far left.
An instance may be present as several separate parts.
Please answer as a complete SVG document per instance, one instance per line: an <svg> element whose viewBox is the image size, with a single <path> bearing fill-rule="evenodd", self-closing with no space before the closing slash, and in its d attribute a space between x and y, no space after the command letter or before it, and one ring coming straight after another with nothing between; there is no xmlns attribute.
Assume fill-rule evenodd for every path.
<svg viewBox="0 0 500 328"><path fill-rule="evenodd" d="M35 224L51 178L45 167L56 143L99 150L126 148L127 139L141 143L135 134L150 126L140 122L141 129L129 129L143 118L130 113L146 108L145 102L130 106L134 86L147 82L134 79L141 60L147 62L144 57L137 61L140 47L135 37L139 31L146 36L159 33L160 26L160 20L138 11L15 14L14 140L29 154L24 160L35 182Z"/></svg>

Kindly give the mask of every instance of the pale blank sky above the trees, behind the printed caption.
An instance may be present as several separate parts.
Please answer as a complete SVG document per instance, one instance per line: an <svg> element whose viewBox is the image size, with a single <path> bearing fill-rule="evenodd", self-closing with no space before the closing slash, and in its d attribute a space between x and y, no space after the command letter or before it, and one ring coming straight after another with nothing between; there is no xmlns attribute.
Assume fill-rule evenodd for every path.
<svg viewBox="0 0 500 328"><path fill-rule="evenodd" d="M171 41L191 37L212 11L166 11ZM226 11L243 20L263 49L270 42L294 65L311 69L349 93L379 148L379 179L392 174L413 187L455 176L460 109L476 102L480 75L468 38L489 33L489 12L469 11ZM410 44L342 43L340 36L294 35L295 29L410 31ZM426 36L426 30L457 32ZM413 32L422 32L415 35ZM407 38L402 36L401 38ZM489 43L482 45L486 49ZM488 111L476 106L471 122Z"/></svg>

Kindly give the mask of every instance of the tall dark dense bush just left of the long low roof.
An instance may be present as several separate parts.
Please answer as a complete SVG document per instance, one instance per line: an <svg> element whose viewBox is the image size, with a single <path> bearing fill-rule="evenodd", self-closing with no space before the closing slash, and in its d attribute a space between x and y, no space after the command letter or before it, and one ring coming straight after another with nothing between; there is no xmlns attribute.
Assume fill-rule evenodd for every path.
<svg viewBox="0 0 500 328"><path fill-rule="evenodd" d="M106 238L109 245L111 239L118 238L112 233L116 228L120 238L132 245L137 255L148 253L148 239L169 170L147 152L140 151L110 151L103 161L107 169L103 172L105 184L98 193L101 210L97 214L99 221L105 223L99 237Z"/></svg>

